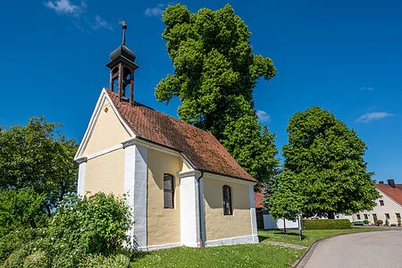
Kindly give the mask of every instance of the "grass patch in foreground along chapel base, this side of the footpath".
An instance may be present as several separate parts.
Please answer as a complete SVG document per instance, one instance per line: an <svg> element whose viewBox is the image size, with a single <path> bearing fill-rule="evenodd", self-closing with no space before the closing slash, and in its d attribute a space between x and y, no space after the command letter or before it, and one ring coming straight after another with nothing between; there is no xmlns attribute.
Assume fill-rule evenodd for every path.
<svg viewBox="0 0 402 268"><path fill-rule="evenodd" d="M265 243L222 247L176 247L138 257L131 267L289 267L302 249Z"/></svg>

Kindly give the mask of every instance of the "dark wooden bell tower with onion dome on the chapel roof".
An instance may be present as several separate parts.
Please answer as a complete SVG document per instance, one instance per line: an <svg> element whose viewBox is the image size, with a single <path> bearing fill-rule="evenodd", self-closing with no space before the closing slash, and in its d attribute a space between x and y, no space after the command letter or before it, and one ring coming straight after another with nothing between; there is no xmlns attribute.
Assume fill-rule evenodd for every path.
<svg viewBox="0 0 402 268"><path fill-rule="evenodd" d="M134 105L134 71L138 69L138 65L134 63L136 54L126 46L126 22L121 21L121 28L121 46L109 55L111 62L106 64L110 68L109 90L117 91L121 101L129 101L130 105Z"/></svg>

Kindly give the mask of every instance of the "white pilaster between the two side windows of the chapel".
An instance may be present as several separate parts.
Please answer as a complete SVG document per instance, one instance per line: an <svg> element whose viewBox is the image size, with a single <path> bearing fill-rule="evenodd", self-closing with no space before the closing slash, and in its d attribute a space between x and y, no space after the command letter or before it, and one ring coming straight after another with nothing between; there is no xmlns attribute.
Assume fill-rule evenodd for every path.
<svg viewBox="0 0 402 268"><path fill-rule="evenodd" d="M201 172L179 172L180 178L180 242L183 246L199 247L198 178ZM201 179L202 180L202 179ZM204 198L202 199L204 200Z"/></svg>

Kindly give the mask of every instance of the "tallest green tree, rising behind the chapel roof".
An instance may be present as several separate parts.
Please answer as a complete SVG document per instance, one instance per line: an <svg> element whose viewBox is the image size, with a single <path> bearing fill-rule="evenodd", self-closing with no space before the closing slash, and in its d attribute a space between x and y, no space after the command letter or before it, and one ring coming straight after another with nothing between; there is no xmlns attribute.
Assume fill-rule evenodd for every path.
<svg viewBox="0 0 402 268"><path fill-rule="evenodd" d="M181 120L210 131L255 179L272 176L274 135L258 123L253 102L256 80L275 75L272 60L253 54L251 33L229 4L197 13L168 6L163 22L174 73L159 82L156 98L179 96Z"/></svg>

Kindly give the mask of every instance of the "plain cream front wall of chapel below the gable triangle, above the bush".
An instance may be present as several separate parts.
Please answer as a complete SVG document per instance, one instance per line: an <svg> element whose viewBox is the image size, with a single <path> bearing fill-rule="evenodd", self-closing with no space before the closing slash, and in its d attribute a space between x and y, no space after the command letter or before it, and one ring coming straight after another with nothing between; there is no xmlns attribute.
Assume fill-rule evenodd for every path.
<svg viewBox="0 0 402 268"><path fill-rule="evenodd" d="M89 159L86 166L84 194L124 193L124 149Z"/></svg>

